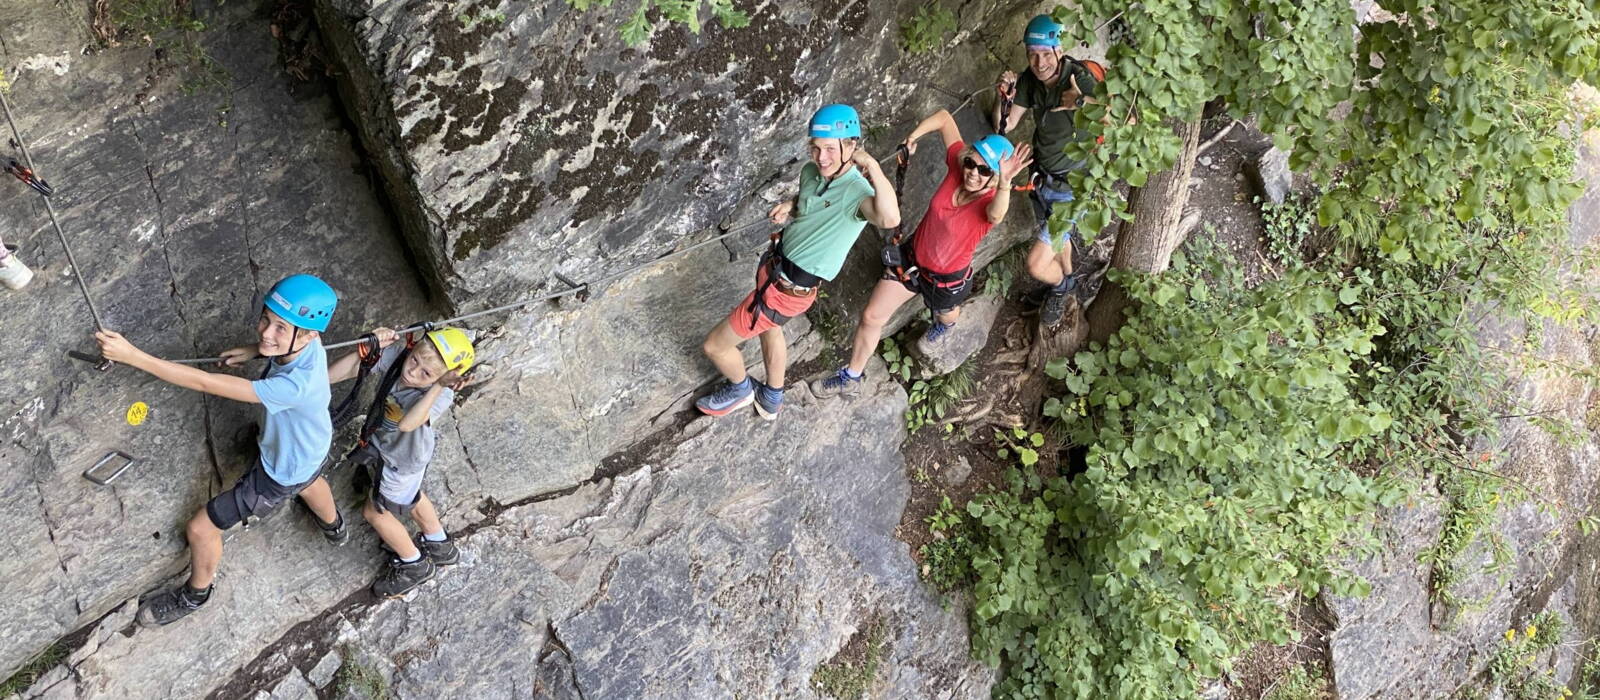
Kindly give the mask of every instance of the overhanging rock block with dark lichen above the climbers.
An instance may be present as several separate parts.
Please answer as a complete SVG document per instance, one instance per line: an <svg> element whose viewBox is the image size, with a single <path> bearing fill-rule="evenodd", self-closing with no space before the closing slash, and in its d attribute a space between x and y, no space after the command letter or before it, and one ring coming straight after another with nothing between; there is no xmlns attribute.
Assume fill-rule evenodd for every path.
<svg viewBox="0 0 1600 700"><path fill-rule="evenodd" d="M1000 8L962 19L979 27ZM757 219L792 192L822 104L856 105L866 147L890 155L914 105L952 107L995 72L949 62L928 80L931 59L894 45L912 10L768 3L741 30L662 29L630 50L614 34L624 6L317 0L402 229L458 305Z"/></svg>

